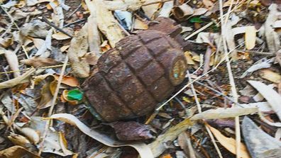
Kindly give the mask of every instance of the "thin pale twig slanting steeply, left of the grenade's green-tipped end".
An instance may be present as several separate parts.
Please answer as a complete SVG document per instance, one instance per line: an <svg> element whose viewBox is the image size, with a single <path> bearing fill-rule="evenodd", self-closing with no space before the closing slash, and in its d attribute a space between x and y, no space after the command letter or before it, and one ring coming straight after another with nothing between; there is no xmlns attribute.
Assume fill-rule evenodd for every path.
<svg viewBox="0 0 281 158"><path fill-rule="evenodd" d="M62 77L65 74L65 69L67 67L67 62L68 62L68 56L65 56L65 61L64 61L64 64L62 66L62 71L60 72L60 77L57 79L57 87L55 89L55 94L53 96L53 100L52 100L52 103L51 103L51 106L50 106L50 109L49 109L49 112L48 112L48 116L53 114L55 102L57 101L57 95L58 95L58 92L60 90L60 84L62 83ZM50 124L51 124L51 120L47 120L47 123L45 125L45 132L43 133L42 142L40 142L40 149L39 149L38 155L40 155L43 151L45 138L48 134L48 128L49 128Z"/></svg>

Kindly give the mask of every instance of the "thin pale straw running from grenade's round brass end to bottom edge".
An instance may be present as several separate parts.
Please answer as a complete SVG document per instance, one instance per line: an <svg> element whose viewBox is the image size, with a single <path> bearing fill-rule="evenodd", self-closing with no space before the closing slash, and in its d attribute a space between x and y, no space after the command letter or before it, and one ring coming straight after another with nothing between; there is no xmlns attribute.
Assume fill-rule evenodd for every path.
<svg viewBox="0 0 281 158"><path fill-rule="evenodd" d="M192 78L190 77L189 71L187 71L187 76L188 76L188 78L189 78L189 81L192 82ZM190 86L191 86L192 93L193 93L194 98L195 98L195 102L196 102L196 105L197 105L197 109L198 109L199 113L202 113L202 108L201 108L201 105L200 105L199 100L198 100L198 98L197 98L197 94L196 94L196 91L195 91L195 89L194 89L194 86L193 86L193 84L190 84ZM216 152L218 152L220 158L223 158L223 157L222 157L222 154L221 154L221 151L219 150L218 145L216 145L216 141L214 140L213 133L211 132L211 130L209 129L209 127L206 125L206 121L205 121L205 120L203 120L203 121L204 121L204 124L205 124L205 128L206 128L206 130L207 130L209 136L211 137L211 142L213 142L214 147L216 148Z"/></svg>

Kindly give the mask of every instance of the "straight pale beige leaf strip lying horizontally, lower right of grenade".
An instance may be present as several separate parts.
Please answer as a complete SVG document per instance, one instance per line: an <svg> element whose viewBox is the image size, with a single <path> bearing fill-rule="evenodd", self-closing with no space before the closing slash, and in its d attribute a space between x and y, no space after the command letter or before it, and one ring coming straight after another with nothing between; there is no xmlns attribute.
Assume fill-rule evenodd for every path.
<svg viewBox="0 0 281 158"><path fill-rule="evenodd" d="M216 108L202 113L197 113L190 120L235 118L240 115L257 113L258 108Z"/></svg>

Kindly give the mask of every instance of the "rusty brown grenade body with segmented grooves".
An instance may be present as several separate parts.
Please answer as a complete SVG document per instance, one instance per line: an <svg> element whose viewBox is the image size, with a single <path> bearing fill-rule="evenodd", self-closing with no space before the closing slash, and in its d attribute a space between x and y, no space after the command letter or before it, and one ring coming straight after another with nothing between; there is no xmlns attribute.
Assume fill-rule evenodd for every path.
<svg viewBox="0 0 281 158"><path fill-rule="evenodd" d="M183 81L187 63L175 40L143 30L101 55L97 67L82 88L101 118L111 122L153 111Z"/></svg>

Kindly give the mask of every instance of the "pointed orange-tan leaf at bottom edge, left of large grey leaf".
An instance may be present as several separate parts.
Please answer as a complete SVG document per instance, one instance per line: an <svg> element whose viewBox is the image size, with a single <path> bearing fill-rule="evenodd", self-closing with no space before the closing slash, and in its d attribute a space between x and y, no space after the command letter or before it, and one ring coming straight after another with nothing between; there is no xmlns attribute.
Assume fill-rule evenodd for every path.
<svg viewBox="0 0 281 158"><path fill-rule="evenodd" d="M236 154L236 140L232 137L224 136L221 132L219 132L219 130L216 130L216 128L213 128L210 125L207 126L222 146L224 146L229 152ZM246 146L242 142L240 146L240 156L243 158L250 158L250 154L248 154Z"/></svg>

